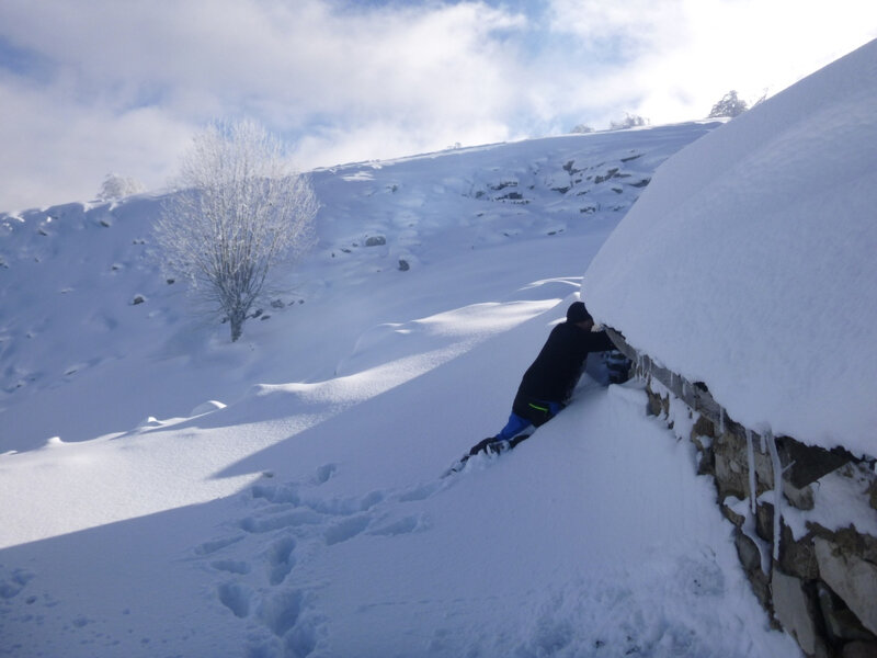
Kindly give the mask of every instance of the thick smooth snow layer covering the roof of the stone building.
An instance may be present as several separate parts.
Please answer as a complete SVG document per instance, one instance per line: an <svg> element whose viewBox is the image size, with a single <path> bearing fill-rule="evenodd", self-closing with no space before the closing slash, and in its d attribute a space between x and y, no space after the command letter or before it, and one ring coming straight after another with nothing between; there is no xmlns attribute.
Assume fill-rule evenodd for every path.
<svg viewBox="0 0 877 658"><path fill-rule="evenodd" d="M603 322L734 420L877 454L877 41L692 144L591 262Z"/></svg>

